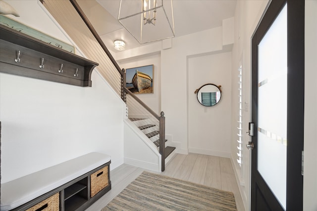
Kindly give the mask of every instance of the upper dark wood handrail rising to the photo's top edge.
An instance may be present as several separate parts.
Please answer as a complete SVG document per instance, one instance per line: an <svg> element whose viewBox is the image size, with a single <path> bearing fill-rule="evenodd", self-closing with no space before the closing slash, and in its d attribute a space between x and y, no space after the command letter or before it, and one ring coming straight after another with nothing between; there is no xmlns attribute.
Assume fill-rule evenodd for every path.
<svg viewBox="0 0 317 211"><path fill-rule="evenodd" d="M75 9L77 10L78 14L80 15L80 17L83 19L83 21L86 23L87 27L90 29L90 31L93 33L94 37L96 38L97 42L102 46L102 48L105 50L107 56L109 57L109 59L111 60L112 64L115 66L115 68L117 69L117 71L120 73L120 75L122 76L123 73L118 65L118 63L115 61L115 59L112 57L110 51L108 50L108 48L106 47L105 43L102 41L102 39L99 37L97 31L95 30L95 28L93 27L93 25L90 23L90 21L88 20L87 16L85 15L84 11L80 8L80 6L78 5L78 3L76 2L76 0L70 0L70 2L73 4L73 6L75 7Z"/></svg>

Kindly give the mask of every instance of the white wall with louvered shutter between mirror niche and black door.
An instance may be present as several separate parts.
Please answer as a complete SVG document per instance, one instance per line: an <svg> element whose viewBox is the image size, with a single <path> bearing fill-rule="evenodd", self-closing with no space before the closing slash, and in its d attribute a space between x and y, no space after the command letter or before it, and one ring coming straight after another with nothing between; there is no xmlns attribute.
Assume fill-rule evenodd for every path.
<svg viewBox="0 0 317 211"><path fill-rule="evenodd" d="M240 192L246 210L250 209L250 151L245 147L249 141L247 135L250 122L250 84L251 84L251 38L268 0L239 0L235 11L234 46L232 49L232 119L231 119L231 162L236 172ZM242 168L237 159L237 116L238 116L238 68L242 63L243 128L242 128Z"/></svg>

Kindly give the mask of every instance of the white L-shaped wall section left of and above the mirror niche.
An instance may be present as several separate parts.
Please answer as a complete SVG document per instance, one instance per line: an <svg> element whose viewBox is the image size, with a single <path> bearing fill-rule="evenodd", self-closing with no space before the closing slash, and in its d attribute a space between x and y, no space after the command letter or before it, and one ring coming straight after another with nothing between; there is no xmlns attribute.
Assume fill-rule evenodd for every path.
<svg viewBox="0 0 317 211"><path fill-rule="evenodd" d="M188 87L187 57L222 50L222 28L175 38L172 44L172 48L161 51L161 106L166 117L166 133L173 134L174 142L180 143L178 152L186 154L188 153L187 93L191 91Z"/></svg>

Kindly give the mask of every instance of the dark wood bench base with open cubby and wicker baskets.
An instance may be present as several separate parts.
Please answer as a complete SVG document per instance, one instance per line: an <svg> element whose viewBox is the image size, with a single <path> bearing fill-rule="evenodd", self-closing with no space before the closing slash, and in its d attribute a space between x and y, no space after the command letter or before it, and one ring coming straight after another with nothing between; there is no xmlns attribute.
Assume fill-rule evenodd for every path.
<svg viewBox="0 0 317 211"><path fill-rule="evenodd" d="M79 160L79 162L82 162L82 160ZM106 164L98 168L88 172L86 171L86 173L82 172L83 174L77 178L17 208L9 210L41 211L42 209L50 211L84 211L111 189L110 172L108 171L110 163L111 161L109 160ZM58 171L57 166L54 166L54 170ZM70 166L70 168L71 167L74 168L74 166ZM62 169L64 169L64 166L60 170ZM38 178L37 175L35 175L35 177ZM97 178L96 182L91 181L92 177ZM32 181L34 180L32 179ZM100 186L100 184L102 184L101 188L92 190L94 186ZM91 195L92 192L94 192L93 196Z"/></svg>

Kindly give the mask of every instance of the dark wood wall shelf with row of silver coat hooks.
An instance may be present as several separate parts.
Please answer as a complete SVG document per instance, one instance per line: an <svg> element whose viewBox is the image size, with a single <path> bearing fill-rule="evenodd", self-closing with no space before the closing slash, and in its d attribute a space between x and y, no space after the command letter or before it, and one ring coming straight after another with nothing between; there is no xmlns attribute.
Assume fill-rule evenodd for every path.
<svg viewBox="0 0 317 211"><path fill-rule="evenodd" d="M99 64L0 25L0 72L78 86L92 86L91 73ZM16 62L20 51L20 62ZM41 59L44 58L44 68ZM62 73L58 70L63 64ZM75 76L76 69L78 75Z"/></svg>

